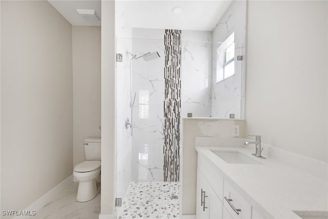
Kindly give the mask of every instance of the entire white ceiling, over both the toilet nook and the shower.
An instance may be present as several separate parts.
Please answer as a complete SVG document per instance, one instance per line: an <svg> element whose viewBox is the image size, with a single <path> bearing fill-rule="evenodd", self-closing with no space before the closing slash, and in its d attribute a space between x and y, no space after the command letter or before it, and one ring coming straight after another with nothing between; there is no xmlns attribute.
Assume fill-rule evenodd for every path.
<svg viewBox="0 0 328 219"><path fill-rule="evenodd" d="M100 26L101 22L86 21L76 9L93 9L101 17L99 0L49 0L72 25ZM116 0L116 8L125 9L128 23L135 28L180 29L212 31L228 9L232 0L169 1L169 0ZM181 14L173 14L174 7L181 7Z"/></svg>

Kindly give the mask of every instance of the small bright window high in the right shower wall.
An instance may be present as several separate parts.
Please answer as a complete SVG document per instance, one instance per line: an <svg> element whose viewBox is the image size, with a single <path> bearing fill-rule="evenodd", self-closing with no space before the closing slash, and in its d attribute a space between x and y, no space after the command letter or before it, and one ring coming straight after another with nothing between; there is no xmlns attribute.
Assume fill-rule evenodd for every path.
<svg viewBox="0 0 328 219"><path fill-rule="evenodd" d="M216 82L235 74L235 34L232 33L221 46L217 48Z"/></svg>

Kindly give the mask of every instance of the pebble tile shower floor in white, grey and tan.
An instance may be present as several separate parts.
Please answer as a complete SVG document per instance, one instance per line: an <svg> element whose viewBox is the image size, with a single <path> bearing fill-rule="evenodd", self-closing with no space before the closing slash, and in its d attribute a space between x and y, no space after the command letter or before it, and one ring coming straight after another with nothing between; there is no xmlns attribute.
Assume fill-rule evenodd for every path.
<svg viewBox="0 0 328 219"><path fill-rule="evenodd" d="M178 218L179 189L179 183L131 182L117 218Z"/></svg>

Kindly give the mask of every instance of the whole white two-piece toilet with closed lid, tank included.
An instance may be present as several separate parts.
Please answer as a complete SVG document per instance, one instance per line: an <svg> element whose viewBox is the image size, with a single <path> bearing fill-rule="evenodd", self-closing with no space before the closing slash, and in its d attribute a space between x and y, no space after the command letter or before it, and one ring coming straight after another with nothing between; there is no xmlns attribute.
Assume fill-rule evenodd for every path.
<svg viewBox="0 0 328 219"><path fill-rule="evenodd" d="M73 171L73 176L78 181L77 202L88 202L98 194L99 189L96 186L96 179L100 173L100 144L100 138L87 138L84 140L86 161L77 164Z"/></svg>

